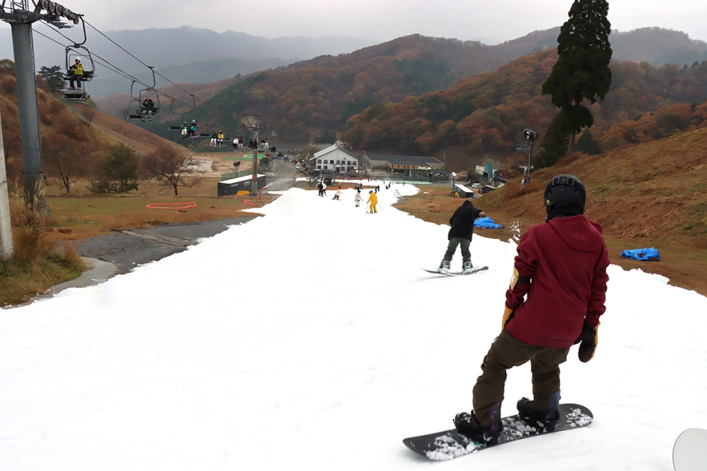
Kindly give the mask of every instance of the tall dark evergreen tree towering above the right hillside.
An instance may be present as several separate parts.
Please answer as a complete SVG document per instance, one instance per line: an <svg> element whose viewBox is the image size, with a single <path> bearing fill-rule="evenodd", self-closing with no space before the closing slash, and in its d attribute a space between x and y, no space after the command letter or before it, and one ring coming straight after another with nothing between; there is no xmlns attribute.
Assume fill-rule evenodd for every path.
<svg viewBox="0 0 707 471"><path fill-rule="evenodd" d="M558 124L570 138L568 155L574 150L577 132L594 124L592 113L582 102L604 100L612 85L608 13L606 0L574 1L557 37L559 59L542 84L542 93L551 95L552 103L560 108Z"/></svg>

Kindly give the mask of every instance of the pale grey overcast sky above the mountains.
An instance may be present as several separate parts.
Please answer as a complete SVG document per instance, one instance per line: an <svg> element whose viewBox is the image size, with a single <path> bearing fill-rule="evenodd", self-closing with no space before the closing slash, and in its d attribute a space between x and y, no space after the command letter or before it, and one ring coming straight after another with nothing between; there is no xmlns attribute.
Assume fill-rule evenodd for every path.
<svg viewBox="0 0 707 471"><path fill-rule="evenodd" d="M256 36L353 36L375 41L420 33L428 36L512 40L559 26L571 0L60 0L99 30L177 28L191 25L219 33ZM707 1L612 0L612 28L670 28L707 41ZM3 28L8 26L4 23Z"/></svg>

